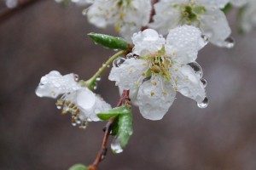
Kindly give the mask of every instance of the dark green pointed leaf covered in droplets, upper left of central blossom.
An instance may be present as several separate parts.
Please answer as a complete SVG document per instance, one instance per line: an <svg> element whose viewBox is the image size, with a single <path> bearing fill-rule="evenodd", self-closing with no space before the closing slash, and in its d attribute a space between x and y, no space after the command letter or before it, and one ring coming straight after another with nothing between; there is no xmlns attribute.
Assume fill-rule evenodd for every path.
<svg viewBox="0 0 256 170"><path fill-rule="evenodd" d="M121 37L112 37L105 34L89 33L88 36L96 43L101 44L105 48L112 49L128 49L129 43Z"/></svg>

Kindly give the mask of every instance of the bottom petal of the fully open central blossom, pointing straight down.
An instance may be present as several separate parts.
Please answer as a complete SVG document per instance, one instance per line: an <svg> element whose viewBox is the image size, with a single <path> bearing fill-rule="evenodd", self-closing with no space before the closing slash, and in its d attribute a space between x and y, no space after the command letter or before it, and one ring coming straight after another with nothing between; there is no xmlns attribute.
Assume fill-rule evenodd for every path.
<svg viewBox="0 0 256 170"><path fill-rule="evenodd" d="M157 85L154 86L151 81L143 82L137 94L139 110L144 118L149 120L160 120L172 105L176 92L171 83L163 82L161 88L160 80L154 79ZM166 94L163 94L163 90Z"/></svg>

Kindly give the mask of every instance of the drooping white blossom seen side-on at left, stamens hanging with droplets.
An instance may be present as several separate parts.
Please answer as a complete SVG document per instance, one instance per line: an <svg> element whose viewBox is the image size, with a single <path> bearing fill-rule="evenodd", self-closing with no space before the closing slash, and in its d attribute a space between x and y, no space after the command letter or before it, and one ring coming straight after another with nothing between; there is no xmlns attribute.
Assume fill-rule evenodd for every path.
<svg viewBox="0 0 256 170"><path fill-rule="evenodd" d="M85 128L88 121L100 121L96 114L111 106L77 81L73 73L61 76L58 71L50 71L41 78L36 94L54 99L61 95L56 102L57 108L62 108L62 114L72 114L73 125Z"/></svg>

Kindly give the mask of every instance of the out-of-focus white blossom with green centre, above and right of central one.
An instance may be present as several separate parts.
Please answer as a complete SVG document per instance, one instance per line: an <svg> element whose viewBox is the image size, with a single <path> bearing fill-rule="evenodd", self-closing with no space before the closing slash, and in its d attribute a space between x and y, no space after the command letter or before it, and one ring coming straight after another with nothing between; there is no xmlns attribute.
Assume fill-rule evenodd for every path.
<svg viewBox="0 0 256 170"><path fill-rule="evenodd" d="M177 26L196 26L213 44L230 48L225 42L231 33L230 26L220 10L227 3L229 0L160 0L154 4L154 22L149 27L166 35Z"/></svg>

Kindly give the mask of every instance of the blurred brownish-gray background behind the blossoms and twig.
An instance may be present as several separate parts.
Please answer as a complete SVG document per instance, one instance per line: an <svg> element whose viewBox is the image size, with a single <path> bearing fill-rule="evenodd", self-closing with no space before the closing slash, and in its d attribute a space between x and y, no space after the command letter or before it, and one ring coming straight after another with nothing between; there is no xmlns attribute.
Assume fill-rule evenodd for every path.
<svg viewBox="0 0 256 170"><path fill-rule="evenodd" d="M86 36L114 34L112 28L90 26L82 9L43 1L0 23L0 169L58 170L94 161L105 123L72 127L55 99L34 93L49 71L86 80L114 53ZM238 35L236 11L229 20L236 47L207 45L197 60L208 82L207 109L180 94L162 121L145 120L134 108L130 143L119 155L109 151L100 169L256 169L256 31ZM114 106L118 90L108 71L104 76L96 93Z"/></svg>

